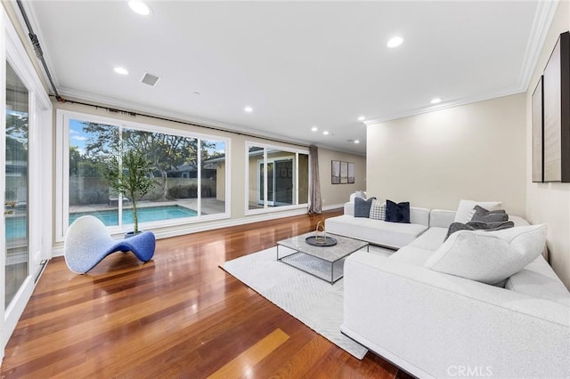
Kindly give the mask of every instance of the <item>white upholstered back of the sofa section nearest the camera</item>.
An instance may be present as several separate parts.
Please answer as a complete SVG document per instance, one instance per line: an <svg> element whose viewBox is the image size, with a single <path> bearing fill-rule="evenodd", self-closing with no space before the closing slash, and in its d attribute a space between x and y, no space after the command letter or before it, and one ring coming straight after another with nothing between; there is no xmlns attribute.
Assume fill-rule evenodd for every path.
<svg viewBox="0 0 570 379"><path fill-rule="evenodd" d="M570 375L570 307L362 252L344 272L343 333L413 375Z"/></svg>

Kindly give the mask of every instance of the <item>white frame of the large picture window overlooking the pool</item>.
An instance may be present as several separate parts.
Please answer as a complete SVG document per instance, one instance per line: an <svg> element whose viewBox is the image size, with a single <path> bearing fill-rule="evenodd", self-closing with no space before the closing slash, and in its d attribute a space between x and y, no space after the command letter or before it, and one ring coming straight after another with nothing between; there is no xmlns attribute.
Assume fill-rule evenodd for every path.
<svg viewBox="0 0 570 379"><path fill-rule="evenodd" d="M230 175L231 172L231 162L230 162L230 151L231 151L231 139L227 137L211 135L206 133L197 133L194 131L184 131L181 129L175 129L163 125L151 125L145 123L139 123L134 121L123 120L120 118L113 117L102 117L98 115L92 115L89 113L77 112L67 109L57 109L56 112L56 212L55 212L55 240L56 242L62 242L65 238L65 234L69 228L69 121L71 119L76 119L82 122L93 122L103 125L113 125L118 126L119 135L122 133L123 129L133 129L141 132L150 133L164 133L175 136L181 136L185 138L196 139L201 144L202 141L220 141L225 144L225 210L224 213L220 214L201 214L201 191L200 185L198 185L198 198L197 201L197 216L180 218L180 219L169 219L161 220L156 222L140 222L141 228L152 230L152 229L163 229L169 227L178 227L184 224L193 224L199 222L209 222L214 220L228 219L231 217L231 182ZM197 169L198 169L198 183L201 181L201 154L197 157ZM121 224L120 212L121 206L119 206L119 225L109 226L107 229L111 234L119 234L125 232L128 228ZM128 224L130 225L130 224Z"/></svg>

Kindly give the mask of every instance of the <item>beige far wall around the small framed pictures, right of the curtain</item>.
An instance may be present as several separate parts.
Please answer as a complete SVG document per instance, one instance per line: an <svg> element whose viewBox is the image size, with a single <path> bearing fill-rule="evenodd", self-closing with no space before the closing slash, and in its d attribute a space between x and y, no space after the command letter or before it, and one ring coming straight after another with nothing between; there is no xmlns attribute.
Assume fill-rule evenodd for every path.
<svg viewBox="0 0 570 379"><path fill-rule="evenodd" d="M330 161L354 162L354 184L331 184ZM355 190L366 189L366 157L319 148L322 209L342 207Z"/></svg>

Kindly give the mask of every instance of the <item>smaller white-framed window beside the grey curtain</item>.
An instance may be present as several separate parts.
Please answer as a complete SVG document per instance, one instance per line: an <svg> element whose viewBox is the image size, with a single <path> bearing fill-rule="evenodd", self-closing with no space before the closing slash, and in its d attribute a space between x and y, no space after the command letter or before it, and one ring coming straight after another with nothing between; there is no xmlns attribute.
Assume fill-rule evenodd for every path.
<svg viewBox="0 0 570 379"><path fill-rule="evenodd" d="M308 200L308 152L248 143L248 213L302 206Z"/></svg>

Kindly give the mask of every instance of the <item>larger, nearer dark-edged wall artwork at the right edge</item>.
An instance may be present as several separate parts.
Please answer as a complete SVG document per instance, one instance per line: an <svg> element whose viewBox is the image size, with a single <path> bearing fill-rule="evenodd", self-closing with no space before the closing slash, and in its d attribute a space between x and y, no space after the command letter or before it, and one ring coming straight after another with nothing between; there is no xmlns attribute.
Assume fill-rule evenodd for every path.
<svg viewBox="0 0 570 379"><path fill-rule="evenodd" d="M568 32L562 33L558 38L544 69L542 101L543 181L570 182L570 33Z"/></svg>

